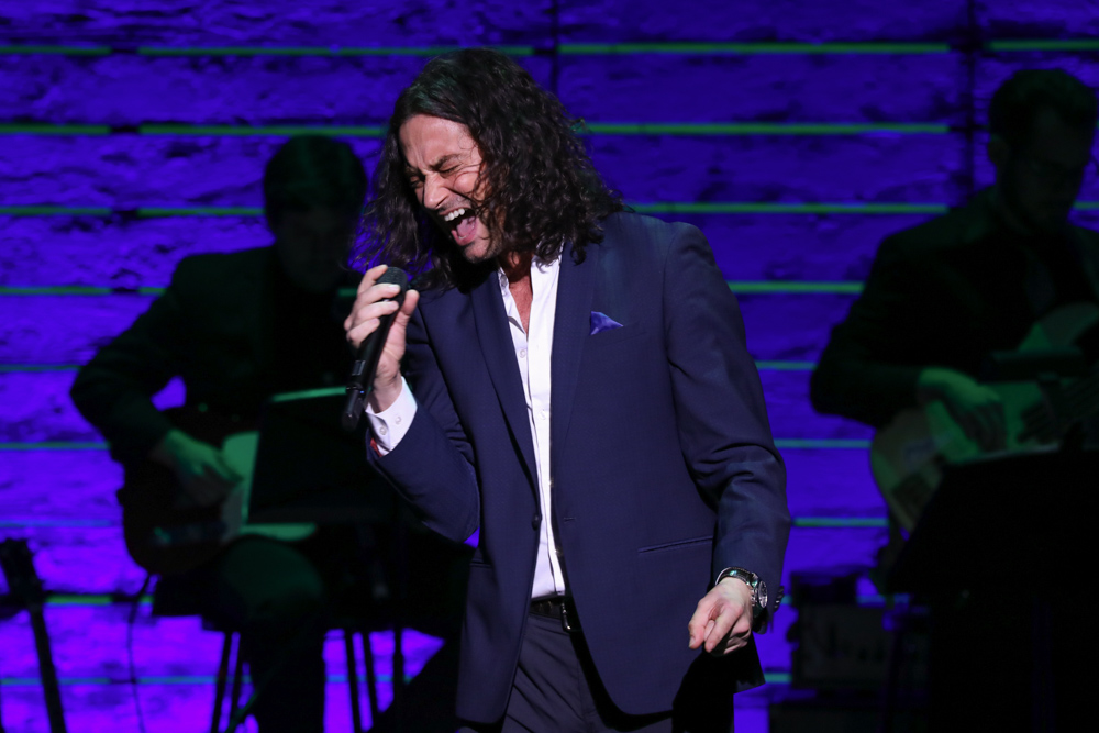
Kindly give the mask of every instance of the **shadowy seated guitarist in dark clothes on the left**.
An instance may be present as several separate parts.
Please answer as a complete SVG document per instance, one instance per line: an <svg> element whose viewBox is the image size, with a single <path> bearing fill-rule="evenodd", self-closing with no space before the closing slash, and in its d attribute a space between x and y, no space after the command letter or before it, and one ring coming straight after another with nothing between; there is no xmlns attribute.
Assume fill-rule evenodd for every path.
<svg viewBox="0 0 1099 733"><path fill-rule="evenodd" d="M353 355L341 323L351 301L338 289L359 277L344 264L365 195L366 174L348 145L291 138L264 174L274 245L185 258L165 293L80 370L73 399L126 467L124 522L140 508L215 507L240 479L221 438L255 430L271 395L343 382ZM174 377L186 385L186 404L168 415L151 396ZM167 498L141 486L162 475L176 478ZM147 533L131 534L131 554L151 570L193 564L182 556L156 567ZM324 725L323 614L355 544L331 527L303 534L243 537L173 577L196 590L204 613L244 629L253 678L269 679L253 711L264 733Z"/></svg>

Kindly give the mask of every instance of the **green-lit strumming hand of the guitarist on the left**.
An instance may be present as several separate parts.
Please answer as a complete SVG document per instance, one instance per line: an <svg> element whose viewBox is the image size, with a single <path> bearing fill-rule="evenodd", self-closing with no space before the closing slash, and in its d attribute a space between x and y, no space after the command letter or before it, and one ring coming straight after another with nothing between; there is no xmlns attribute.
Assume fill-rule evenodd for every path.
<svg viewBox="0 0 1099 733"><path fill-rule="evenodd" d="M184 506L221 503L243 478L229 465L220 448L178 429L168 431L148 457L176 474Z"/></svg>

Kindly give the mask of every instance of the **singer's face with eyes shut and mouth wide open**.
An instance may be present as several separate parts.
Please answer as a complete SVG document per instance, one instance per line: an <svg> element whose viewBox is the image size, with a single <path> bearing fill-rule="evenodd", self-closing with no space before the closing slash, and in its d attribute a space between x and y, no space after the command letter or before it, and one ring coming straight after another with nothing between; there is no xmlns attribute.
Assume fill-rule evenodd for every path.
<svg viewBox="0 0 1099 733"><path fill-rule="evenodd" d="M500 254L476 203L481 190L481 154L469 129L458 122L418 114L400 130L409 185L444 236L468 262Z"/></svg>

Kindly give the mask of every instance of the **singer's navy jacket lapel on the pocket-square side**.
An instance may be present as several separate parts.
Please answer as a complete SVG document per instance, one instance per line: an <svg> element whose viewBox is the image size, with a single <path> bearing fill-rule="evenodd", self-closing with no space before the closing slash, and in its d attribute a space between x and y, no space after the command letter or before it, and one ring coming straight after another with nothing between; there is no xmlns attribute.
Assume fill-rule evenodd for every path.
<svg viewBox="0 0 1099 733"><path fill-rule="evenodd" d="M584 263L577 265L573 259L571 245L566 245L560 256L550 364L550 414L553 420L550 453L554 465L559 459L558 452L565 445L565 436L568 434L576 382L580 375L580 357L591 333L591 302L599 270L599 245L589 246L586 254Z"/></svg>

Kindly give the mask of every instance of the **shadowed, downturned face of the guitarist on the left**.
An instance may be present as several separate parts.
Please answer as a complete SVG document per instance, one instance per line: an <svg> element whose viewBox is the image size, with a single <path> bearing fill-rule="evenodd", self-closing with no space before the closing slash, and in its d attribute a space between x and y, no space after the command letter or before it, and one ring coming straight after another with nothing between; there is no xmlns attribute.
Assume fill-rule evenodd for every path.
<svg viewBox="0 0 1099 733"><path fill-rule="evenodd" d="M344 275L356 226L354 215L322 207L279 213L270 227L282 270L302 290L331 290Z"/></svg>

